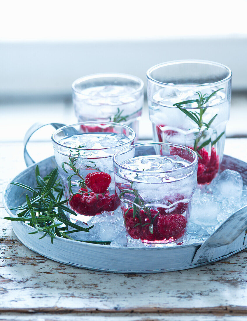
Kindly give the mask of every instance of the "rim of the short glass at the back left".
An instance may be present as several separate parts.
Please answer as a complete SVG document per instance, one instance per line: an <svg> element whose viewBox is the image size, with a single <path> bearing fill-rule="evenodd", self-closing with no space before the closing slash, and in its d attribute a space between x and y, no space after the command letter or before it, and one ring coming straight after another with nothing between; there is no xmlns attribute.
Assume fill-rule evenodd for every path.
<svg viewBox="0 0 247 321"><path fill-rule="evenodd" d="M100 79L100 78L107 78L107 77L111 77L111 78L122 78L122 79L129 79L129 80L134 80L136 82L139 83L139 87L129 93L129 94L120 94L120 95L116 95L116 96L106 96L104 98L109 98L109 97L124 97L124 96L130 96L130 95L134 95L138 92L141 92L144 88L144 82L141 80L141 78L137 77L137 76L133 76L133 75L130 75L130 74L121 74L121 73L98 73L98 74L90 74L90 75L86 75L86 76L83 76L83 77L80 77L78 79L76 79L73 83L72 83L72 91L76 92L77 94L81 95L81 96L84 96L84 97L90 97L90 95L87 95L87 94L83 94L81 93L81 91L77 90L76 89L76 85L78 85L79 83L81 82L84 82L84 81L87 81L87 80L92 80L92 79ZM90 88L90 87L89 87ZM97 95L94 95L93 97L100 97L102 98L102 96L97 96Z"/></svg>

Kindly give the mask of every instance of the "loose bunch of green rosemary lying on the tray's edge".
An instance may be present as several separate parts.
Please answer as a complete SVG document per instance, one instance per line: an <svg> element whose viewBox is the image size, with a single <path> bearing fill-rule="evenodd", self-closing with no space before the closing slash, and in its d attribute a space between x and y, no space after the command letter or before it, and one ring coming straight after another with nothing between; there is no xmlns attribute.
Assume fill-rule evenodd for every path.
<svg viewBox="0 0 247 321"><path fill-rule="evenodd" d="M57 237L72 239L71 233L75 232L89 232L93 228L93 225L87 228L81 227L77 224L70 222L65 213L71 213L77 215L67 206L63 204L67 203L68 200L63 200L63 187L60 179L58 178L57 167L44 178L40 177L39 168L36 167L35 176L37 181L36 189L29 187L22 183L13 182L11 184L24 188L32 193L31 196L26 194L26 203L14 208L13 211L20 211L17 217L5 217L6 220L10 221L22 221L26 222L30 226L35 228L34 232L29 234L36 234L39 231L44 234L39 238L42 239L46 235L53 239ZM68 227L72 227L73 230L68 230ZM110 244L111 242L101 241L81 241L96 244Z"/></svg>

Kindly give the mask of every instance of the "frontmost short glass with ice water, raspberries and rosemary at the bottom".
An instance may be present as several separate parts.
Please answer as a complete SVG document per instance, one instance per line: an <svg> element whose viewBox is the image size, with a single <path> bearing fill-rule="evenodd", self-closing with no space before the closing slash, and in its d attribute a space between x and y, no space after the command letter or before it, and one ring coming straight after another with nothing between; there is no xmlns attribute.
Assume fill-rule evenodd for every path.
<svg viewBox="0 0 247 321"><path fill-rule="evenodd" d="M198 155L174 144L125 147L113 158L128 240L182 244L196 189Z"/></svg>

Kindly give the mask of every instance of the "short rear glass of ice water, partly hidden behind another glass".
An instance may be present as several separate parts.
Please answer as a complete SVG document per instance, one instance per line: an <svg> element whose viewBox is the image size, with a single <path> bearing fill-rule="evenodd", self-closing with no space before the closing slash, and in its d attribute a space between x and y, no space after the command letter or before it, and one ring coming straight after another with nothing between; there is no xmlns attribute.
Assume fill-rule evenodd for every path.
<svg viewBox="0 0 247 321"><path fill-rule="evenodd" d="M77 79L72 84L72 97L78 121L121 123L138 134L143 87L140 78L128 74L93 74Z"/></svg>

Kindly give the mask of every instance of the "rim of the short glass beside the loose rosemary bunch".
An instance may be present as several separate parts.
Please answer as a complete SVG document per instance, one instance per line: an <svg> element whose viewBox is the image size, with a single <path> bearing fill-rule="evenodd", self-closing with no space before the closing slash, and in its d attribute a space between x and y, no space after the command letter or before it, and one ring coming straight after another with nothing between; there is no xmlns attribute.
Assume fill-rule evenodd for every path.
<svg viewBox="0 0 247 321"><path fill-rule="evenodd" d="M81 125L86 125L86 124L96 124L96 125L117 125L117 126L120 126L120 127L123 127L125 129L128 129L131 133L132 133L132 137L129 138L129 140L123 144L119 144L119 145L115 145L115 146L110 146L110 147L102 147L102 148L95 148L95 149L92 149L92 148L76 148L76 147L70 147L70 146L66 146L66 145L63 145L59 142L57 142L55 140L55 135L60 131L60 130L63 130L64 128L66 127L73 127L73 126L81 126ZM84 133L84 134L88 134L88 133ZM91 133L93 134L93 133ZM114 149L116 147L119 147L119 146L124 146L125 144L129 144L131 141L133 141L136 137L136 133L133 131L132 128L130 128L129 126L126 126L126 125L123 125L123 124L119 124L119 123L113 123L113 122L102 122L102 121L85 121L85 122L80 122L80 123L75 123L75 124L72 124L72 125L65 125L65 126L62 126L60 128L58 128L57 130L55 130L55 132L52 134L51 136L51 140L59 145L59 146L62 146L63 148L67 148L67 149L72 149L72 150L76 150L76 151L103 151L103 150L106 150L106 149Z"/></svg>

